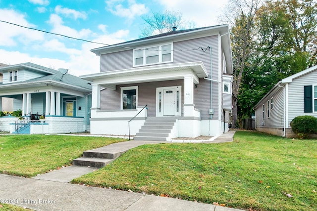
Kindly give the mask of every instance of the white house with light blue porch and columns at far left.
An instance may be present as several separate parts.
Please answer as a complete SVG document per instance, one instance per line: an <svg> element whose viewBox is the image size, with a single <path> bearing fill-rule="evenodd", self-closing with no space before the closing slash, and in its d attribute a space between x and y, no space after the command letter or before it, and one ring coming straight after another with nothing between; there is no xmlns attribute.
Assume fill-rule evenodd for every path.
<svg viewBox="0 0 317 211"><path fill-rule="evenodd" d="M22 110L23 120L0 118L0 131L12 133L68 133L90 129L91 84L79 77L33 63L1 66L2 97ZM40 122L45 117L45 123ZM65 124L67 122L67 124Z"/></svg>

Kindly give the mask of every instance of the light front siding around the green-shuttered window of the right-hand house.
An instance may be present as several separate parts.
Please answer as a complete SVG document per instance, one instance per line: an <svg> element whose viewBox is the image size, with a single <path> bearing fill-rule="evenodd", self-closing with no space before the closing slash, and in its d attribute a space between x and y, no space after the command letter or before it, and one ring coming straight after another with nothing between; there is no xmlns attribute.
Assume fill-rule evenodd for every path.
<svg viewBox="0 0 317 211"><path fill-rule="evenodd" d="M304 86L317 85L317 71L310 72L297 79L293 79L288 88L288 127L297 116L311 115L317 117L317 113L304 113ZM314 90L314 89L313 89ZM314 91L313 91L314 94ZM314 100L313 100L314 103Z"/></svg>

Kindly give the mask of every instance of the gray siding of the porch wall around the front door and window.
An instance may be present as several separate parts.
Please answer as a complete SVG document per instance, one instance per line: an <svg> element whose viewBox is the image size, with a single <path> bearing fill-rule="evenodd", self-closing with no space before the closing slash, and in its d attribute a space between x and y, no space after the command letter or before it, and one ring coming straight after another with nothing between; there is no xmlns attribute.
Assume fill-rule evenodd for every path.
<svg viewBox="0 0 317 211"><path fill-rule="evenodd" d="M157 87L165 86L182 86L182 103L184 104L184 80L175 80L175 81L164 81L164 82L150 82L150 83L141 83L141 84L122 84L117 85L115 91L109 89L104 89L101 91L101 101L100 107L101 110L116 110L120 109L121 96L120 90L121 87L125 86L138 86L138 106L148 105L148 116L156 116L156 90ZM183 106L182 106L183 111Z"/></svg>

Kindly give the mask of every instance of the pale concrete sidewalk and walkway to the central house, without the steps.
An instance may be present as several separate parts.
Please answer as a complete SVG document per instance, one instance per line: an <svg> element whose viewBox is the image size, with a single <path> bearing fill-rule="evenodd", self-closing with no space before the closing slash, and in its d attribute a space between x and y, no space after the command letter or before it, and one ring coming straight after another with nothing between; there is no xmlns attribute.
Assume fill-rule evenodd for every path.
<svg viewBox="0 0 317 211"><path fill-rule="evenodd" d="M229 131L204 143L231 142L233 134L234 131ZM159 143L152 141L151 144L153 142ZM121 147L126 151L149 143L129 141L108 147L112 150ZM95 168L71 166L33 178L0 174L0 202L36 211L239 211L211 204L67 183L72 177L92 170ZM65 176L67 174L69 177Z"/></svg>

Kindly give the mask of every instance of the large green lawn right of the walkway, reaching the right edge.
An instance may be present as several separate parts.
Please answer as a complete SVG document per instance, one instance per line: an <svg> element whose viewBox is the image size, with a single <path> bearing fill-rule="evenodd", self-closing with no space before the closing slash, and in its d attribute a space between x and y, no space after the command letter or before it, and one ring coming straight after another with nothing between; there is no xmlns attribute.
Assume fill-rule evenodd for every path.
<svg viewBox="0 0 317 211"><path fill-rule="evenodd" d="M73 183L245 210L316 211L317 140L237 131L232 143L143 145Z"/></svg>

